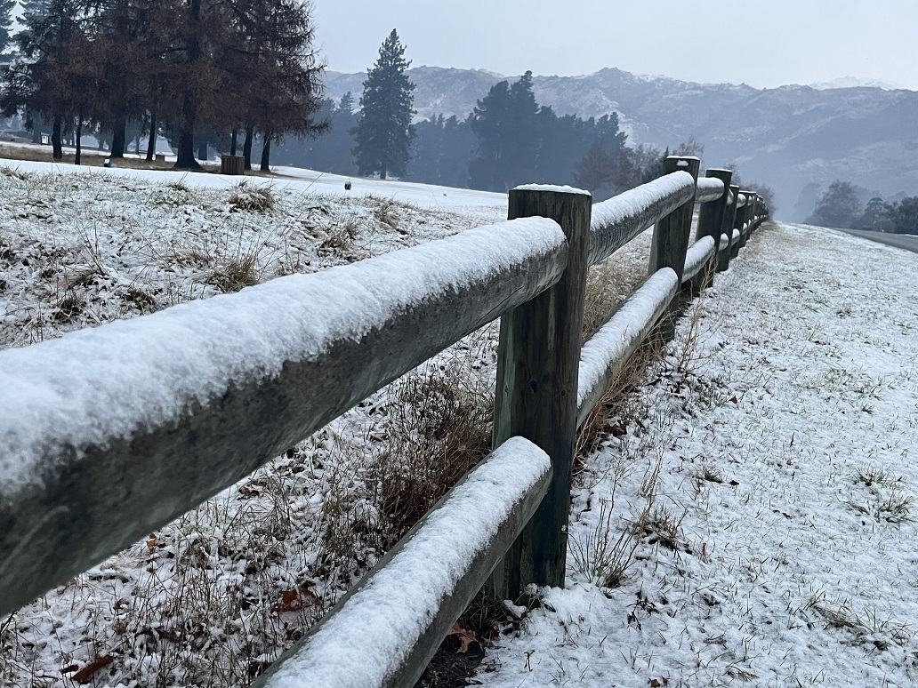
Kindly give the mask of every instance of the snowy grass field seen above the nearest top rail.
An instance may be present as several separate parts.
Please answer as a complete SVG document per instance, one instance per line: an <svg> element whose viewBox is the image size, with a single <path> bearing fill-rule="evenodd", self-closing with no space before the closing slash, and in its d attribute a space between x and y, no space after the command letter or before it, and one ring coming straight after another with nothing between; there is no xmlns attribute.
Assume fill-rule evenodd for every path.
<svg viewBox="0 0 918 688"><path fill-rule="evenodd" d="M258 178L53 168L0 166L2 347L317 272L506 216L506 201L457 213Z"/></svg>

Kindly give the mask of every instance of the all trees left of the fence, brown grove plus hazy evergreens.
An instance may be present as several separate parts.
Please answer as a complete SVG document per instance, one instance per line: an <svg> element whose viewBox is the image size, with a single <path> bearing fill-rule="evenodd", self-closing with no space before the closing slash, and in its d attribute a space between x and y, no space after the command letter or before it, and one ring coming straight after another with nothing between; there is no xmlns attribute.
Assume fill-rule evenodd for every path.
<svg viewBox="0 0 918 688"><path fill-rule="evenodd" d="M79 162L86 130L110 137L113 158L128 132L145 132L151 160L165 128L185 169L199 169L195 150L206 158L208 144L241 148L249 169L260 138L264 171L274 147L275 162L320 171L498 192L572 183L602 200L655 179L670 153L629 147L616 113L583 119L539 105L532 72L496 83L465 118L414 122L410 61L395 29L359 104L353 94L323 100L302 0L25 0L22 21L0 110L24 113L36 131L50 125L56 160L72 135ZM672 152L701 157L703 146L689 139Z"/></svg>

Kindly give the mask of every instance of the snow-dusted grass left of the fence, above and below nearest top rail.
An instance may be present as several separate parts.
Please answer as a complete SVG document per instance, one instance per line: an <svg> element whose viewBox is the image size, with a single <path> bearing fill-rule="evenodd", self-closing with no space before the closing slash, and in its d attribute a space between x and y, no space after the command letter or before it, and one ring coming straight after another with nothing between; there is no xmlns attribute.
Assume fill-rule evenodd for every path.
<svg viewBox="0 0 918 688"><path fill-rule="evenodd" d="M506 216L506 196L454 190L443 197L421 185L376 183L393 198L356 182L366 193L319 194L311 181L8 165L0 166L0 349L10 361L41 341L61 349L65 333L93 338L92 326L102 323ZM401 200L406 188L435 194L436 204ZM449 205L453 199L460 210ZM327 276L294 280L307 278ZM201 304L203 311L221 300ZM465 384L448 401L476 417L465 396L481 395L487 382L467 372L493 380L495 338L495 327L465 338L248 479L0 620L0 684L250 682L391 544L375 536L383 516L373 472L392 450L391 417L423 386L418 380L436 382L460 366ZM11 477L6 468L4 477Z"/></svg>

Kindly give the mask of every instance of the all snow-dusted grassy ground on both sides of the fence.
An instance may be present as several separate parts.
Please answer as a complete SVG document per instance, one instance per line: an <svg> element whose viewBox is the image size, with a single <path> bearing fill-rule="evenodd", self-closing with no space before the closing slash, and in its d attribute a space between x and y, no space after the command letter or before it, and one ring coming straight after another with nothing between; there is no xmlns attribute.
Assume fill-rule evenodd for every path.
<svg viewBox="0 0 918 688"><path fill-rule="evenodd" d="M240 185L8 164L0 349L506 214L501 194L364 180L345 194L343 178L304 171ZM609 272L640 276L648 239ZM912 685L916 268L918 256L829 230L756 234L583 457L567 589L539 592L543 605L519 635L506 627L476 681ZM632 287L623 280L610 297ZM480 426L495 335L466 338L249 480L0 619L0 684L248 682L391 545L397 533L373 534L384 508L375 485L391 478L381 461L452 450L421 441L442 409L418 405L431 398L420 394L456 394ZM386 444L398 427L409 428L403 443ZM487 436L476 441L487 448Z"/></svg>

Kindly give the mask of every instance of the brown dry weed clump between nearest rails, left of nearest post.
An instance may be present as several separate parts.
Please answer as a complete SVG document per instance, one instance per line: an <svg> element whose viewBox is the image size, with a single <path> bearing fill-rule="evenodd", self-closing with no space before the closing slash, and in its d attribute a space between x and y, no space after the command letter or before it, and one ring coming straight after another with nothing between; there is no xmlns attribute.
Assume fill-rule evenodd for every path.
<svg viewBox="0 0 918 688"><path fill-rule="evenodd" d="M394 385L370 447L342 442L326 474L323 547L363 566L362 550L391 548L490 451L491 394L471 388L458 363L410 372ZM361 455L373 459L363 464Z"/></svg>

